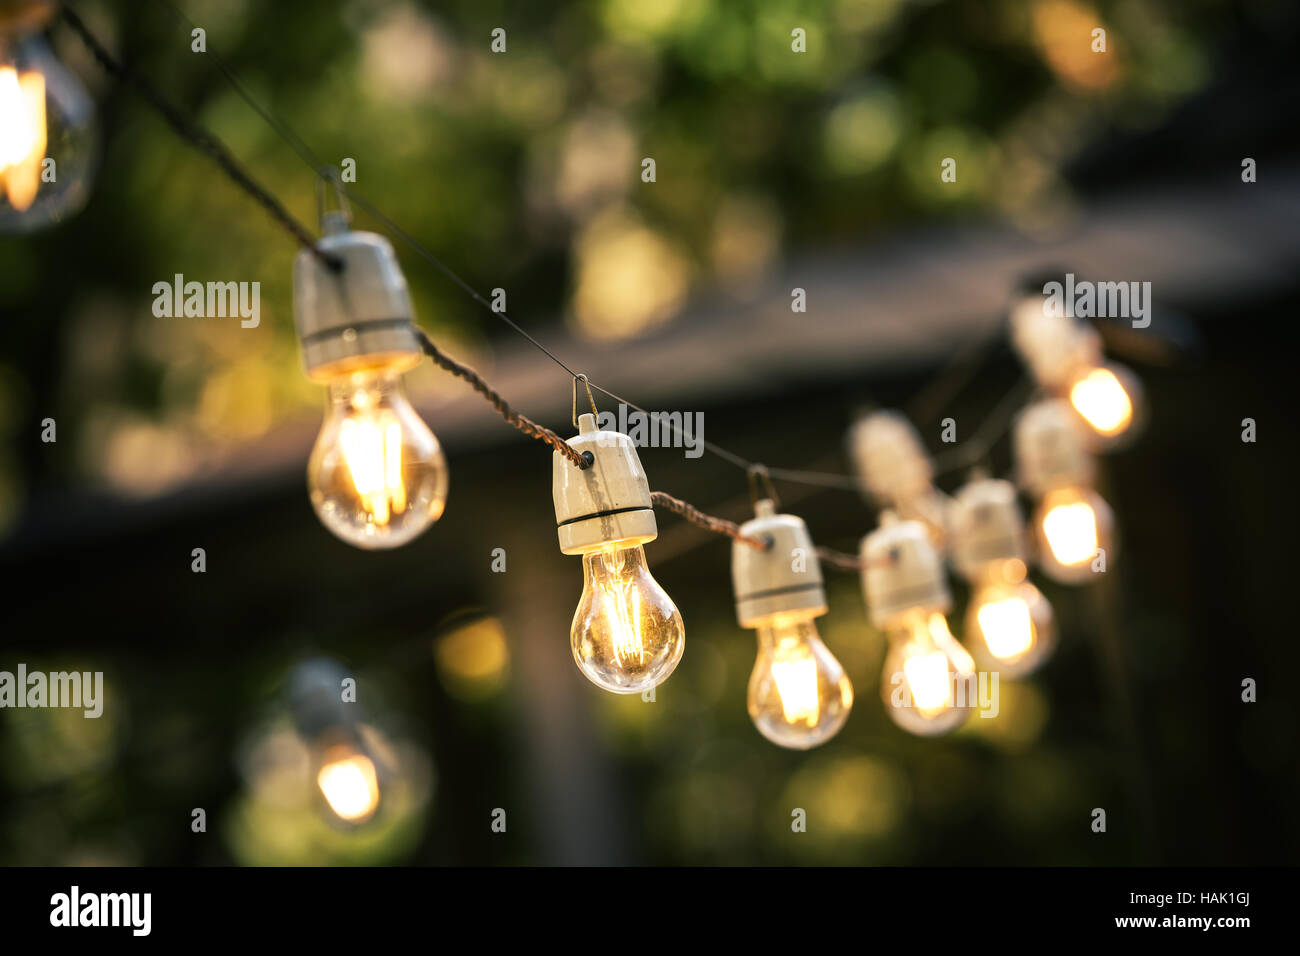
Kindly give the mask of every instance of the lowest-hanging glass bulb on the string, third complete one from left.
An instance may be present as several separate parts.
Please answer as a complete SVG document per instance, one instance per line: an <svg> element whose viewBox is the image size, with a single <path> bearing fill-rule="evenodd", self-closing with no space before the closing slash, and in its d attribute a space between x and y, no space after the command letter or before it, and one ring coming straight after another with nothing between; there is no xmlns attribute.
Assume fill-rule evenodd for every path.
<svg viewBox="0 0 1300 956"><path fill-rule="evenodd" d="M806 750L833 737L853 709L853 684L811 618L759 627L749 717L779 747Z"/></svg>

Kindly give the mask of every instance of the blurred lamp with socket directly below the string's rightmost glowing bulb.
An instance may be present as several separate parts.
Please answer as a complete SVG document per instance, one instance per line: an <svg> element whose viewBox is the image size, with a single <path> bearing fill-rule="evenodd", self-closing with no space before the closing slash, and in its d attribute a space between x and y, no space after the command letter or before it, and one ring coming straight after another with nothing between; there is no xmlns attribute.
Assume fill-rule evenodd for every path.
<svg viewBox="0 0 1300 956"><path fill-rule="evenodd" d="M1015 423L1019 481L1039 499L1034 516L1039 566L1062 584L1082 584L1098 557L1113 555L1110 506L1092 489L1095 466L1070 405L1049 398Z"/></svg>

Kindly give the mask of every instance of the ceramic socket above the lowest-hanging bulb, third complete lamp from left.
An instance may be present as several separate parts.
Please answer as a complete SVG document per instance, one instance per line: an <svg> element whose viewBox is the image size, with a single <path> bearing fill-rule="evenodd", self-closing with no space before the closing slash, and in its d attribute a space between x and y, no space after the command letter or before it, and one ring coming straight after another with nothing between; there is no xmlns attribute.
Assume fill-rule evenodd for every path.
<svg viewBox="0 0 1300 956"><path fill-rule="evenodd" d="M826 614L822 564L803 519L776 514L768 498L754 506L754 514L740 525L740 533L770 545L760 551L744 541L732 544L732 591L740 626L760 627L780 614Z"/></svg>

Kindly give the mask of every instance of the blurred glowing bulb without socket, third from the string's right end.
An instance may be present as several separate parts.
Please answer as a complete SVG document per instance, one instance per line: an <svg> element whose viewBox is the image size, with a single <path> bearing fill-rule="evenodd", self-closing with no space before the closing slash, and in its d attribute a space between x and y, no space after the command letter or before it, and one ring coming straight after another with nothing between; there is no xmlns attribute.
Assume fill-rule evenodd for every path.
<svg viewBox="0 0 1300 956"><path fill-rule="evenodd" d="M967 644L1002 676L1023 678L1056 649L1052 605L1026 580L1024 562L1011 558L985 568L966 610Z"/></svg>

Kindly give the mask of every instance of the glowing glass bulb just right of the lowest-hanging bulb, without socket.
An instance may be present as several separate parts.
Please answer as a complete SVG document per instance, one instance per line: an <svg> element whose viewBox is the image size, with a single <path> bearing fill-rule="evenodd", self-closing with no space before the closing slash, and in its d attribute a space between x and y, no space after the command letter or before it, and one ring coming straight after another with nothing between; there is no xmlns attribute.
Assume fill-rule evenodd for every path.
<svg viewBox="0 0 1300 956"><path fill-rule="evenodd" d="M889 718L910 734L956 730L976 704L975 661L936 610L916 607L887 632L880 696Z"/></svg>

